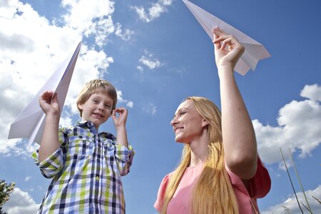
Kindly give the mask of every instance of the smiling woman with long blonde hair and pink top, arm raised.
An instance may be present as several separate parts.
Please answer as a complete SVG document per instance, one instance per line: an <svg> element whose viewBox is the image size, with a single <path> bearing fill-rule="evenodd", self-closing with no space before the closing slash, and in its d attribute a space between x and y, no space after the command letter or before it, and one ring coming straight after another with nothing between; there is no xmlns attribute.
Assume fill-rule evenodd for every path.
<svg viewBox="0 0 321 214"><path fill-rule="evenodd" d="M178 106L171 125L185 146L180 165L158 190L160 213L259 213L256 198L270 190L233 73L244 47L218 28L213 33L222 115L207 98L189 97Z"/></svg>

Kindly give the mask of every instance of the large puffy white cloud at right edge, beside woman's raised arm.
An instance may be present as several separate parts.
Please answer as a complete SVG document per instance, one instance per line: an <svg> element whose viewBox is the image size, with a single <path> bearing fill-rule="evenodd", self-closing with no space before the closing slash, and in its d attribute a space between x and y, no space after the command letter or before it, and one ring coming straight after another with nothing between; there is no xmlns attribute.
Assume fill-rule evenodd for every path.
<svg viewBox="0 0 321 214"><path fill-rule="evenodd" d="M318 100L316 91L320 86L305 86L301 96ZM264 126L254 120L253 126L258 141L260 157L267 163L280 162L280 148L287 155L287 148L300 151L300 157L309 156L311 151L321 143L321 106L312 99L291 101L279 111L279 126Z"/></svg>

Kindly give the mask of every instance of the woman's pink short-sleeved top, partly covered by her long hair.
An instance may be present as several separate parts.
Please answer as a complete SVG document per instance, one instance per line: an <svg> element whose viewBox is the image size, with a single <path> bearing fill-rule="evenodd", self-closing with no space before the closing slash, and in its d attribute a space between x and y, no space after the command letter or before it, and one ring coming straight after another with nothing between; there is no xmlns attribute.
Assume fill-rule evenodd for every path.
<svg viewBox="0 0 321 214"><path fill-rule="evenodd" d="M168 214L188 214L192 213L191 200L192 191L195 186L196 180L198 180L200 173L202 173L203 164L195 165L191 168L186 168L182 179L175 191L173 198L168 203ZM250 193L245 188L243 181L234 173L232 173L228 168L228 175L230 177L230 182L232 183L235 196L238 200L238 210L240 214L255 213L258 210L257 198L263 198L270 191L270 175L267 169L263 165L260 158L258 158L258 169L255 176L250 180ZM157 200L154 207L158 212L161 211L163 206L163 197L165 194L165 189L168 185L170 177L173 175L169 173L163 178L160 188L158 190ZM255 210L253 209L255 206Z"/></svg>

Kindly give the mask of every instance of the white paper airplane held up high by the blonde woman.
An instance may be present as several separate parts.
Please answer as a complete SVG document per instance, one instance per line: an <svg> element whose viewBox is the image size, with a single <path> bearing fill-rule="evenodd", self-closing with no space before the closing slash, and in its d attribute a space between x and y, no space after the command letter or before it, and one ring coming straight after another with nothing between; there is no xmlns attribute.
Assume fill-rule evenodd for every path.
<svg viewBox="0 0 321 214"><path fill-rule="evenodd" d="M206 31L208 36L210 36L210 39L214 39L213 29L215 28L215 26L218 26L218 28L225 31L225 33L235 36L235 38L238 39L241 44L243 44L243 46L245 47L245 52L240 57L238 63L236 63L234 68L238 73L244 76L245 73L250 70L250 68L252 69L252 71L255 70L258 61L263 58L270 57L269 52L267 52L265 47L262 44L258 43L258 41L255 41L254 39L250 38L250 36L244 34L238 29L235 29L233 26L230 26L229 24L201 9L199 6L196 6L190 1L183 0L183 2L188 7L188 9L190 9L192 14Z"/></svg>

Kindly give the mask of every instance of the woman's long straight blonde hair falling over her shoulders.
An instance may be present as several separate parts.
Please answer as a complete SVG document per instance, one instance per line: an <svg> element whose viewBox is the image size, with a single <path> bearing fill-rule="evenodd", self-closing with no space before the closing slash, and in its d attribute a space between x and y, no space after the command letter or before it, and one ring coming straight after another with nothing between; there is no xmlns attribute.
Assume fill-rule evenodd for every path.
<svg viewBox="0 0 321 214"><path fill-rule="evenodd" d="M238 202L225 169L220 110L207 98L192 96L186 100L193 101L200 116L209 123L209 153L193 190L193 213L238 213ZM185 144L182 161L174 171L165 190L161 213L166 213L168 203L178 188L185 169L190 164L190 155L190 146Z"/></svg>

